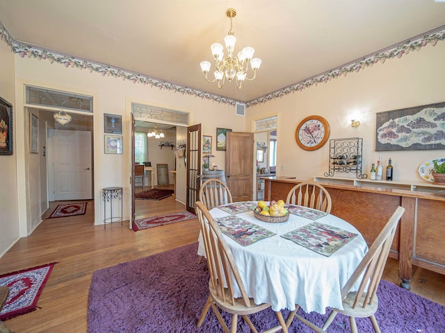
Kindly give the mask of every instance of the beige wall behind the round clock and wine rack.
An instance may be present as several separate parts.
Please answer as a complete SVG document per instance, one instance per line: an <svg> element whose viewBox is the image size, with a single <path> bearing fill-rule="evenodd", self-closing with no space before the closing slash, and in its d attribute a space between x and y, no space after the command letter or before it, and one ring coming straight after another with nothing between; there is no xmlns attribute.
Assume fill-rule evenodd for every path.
<svg viewBox="0 0 445 333"><path fill-rule="evenodd" d="M402 58L387 60L247 109L252 121L278 115L277 175L306 180L322 176L328 168L329 141L316 151L303 151L295 141L298 123L310 115L320 115L330 123L330 139L363 138L363 172L369 173L378 157L387 164L392 157L394 180L425 182L418 173L426 160L445 157L445 151L375 151L375 113L445 101L445 43L428 45ZM351 119L362 125L350 126ZM353 176L336 173L335 176Z"/></svg>

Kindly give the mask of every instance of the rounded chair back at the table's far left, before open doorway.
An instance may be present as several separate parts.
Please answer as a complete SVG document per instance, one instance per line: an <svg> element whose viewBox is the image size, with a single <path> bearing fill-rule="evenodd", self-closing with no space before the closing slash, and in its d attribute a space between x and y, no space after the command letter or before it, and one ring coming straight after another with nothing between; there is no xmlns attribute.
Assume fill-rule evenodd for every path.
<svg viewBox="0 0 445 333"><path fill-rule="evenodd" d="M202 183L198 193L198 200L200 200L207 210L213 207L232 203L232 194L230 194L229 187L224 182L218 179L209 179ZM202 256L197 259L197 263L201 264Z"/></svg>

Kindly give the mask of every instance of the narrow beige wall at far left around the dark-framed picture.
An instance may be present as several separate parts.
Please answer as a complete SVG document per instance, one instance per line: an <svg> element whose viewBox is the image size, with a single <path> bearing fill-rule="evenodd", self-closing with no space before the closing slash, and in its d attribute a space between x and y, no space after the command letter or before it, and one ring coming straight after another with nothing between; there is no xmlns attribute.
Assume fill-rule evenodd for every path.
<svg viewBox="0 0 445 333"><path fill-rule="evenodd" d="M14 95L14 55L10 47L0 42L0 96L13 104L14 155L0 155L0 257L19 239L19 212L17 207L17 152L15 128L17 117Z"/></svg>

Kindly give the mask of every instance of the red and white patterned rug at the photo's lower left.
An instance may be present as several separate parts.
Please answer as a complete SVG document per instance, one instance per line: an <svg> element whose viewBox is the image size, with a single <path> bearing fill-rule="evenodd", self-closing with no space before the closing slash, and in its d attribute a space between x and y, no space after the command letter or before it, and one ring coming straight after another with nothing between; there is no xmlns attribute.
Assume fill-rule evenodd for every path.
<svg viewBox="0 0 445 333"><path fill-rule="evenodd" d="M0 287L9 288L8 300L0 312L0 321L35 310L40 293L55 264L57 263L53 262L0 275Z"/></svg>

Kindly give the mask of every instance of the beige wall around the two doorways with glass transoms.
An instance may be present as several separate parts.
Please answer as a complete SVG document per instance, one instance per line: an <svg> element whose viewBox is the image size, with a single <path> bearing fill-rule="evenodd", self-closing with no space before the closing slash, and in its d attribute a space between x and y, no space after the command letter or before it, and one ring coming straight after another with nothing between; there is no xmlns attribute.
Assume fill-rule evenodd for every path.
<svg viewBox="0 0 445 333"><path fill-rule="evenodd" d="M102 76L97 73L90 73L86 70L76 68L66 68L56 63L51 64L45 60L35 60L33 58L20 58L15 56L16 78L17 78L17 110L19 113L20 128L17 135L21 138L22 144L26 146L26 122L24 115L24 85L37 85L60 89L67 92L86 94L94 99L94 163L95 163L95 223L102 223L103 202L101 200L102 188L111 186L121 186L124 189L124 219L129 218L129 119L131 112L131 102L154 105L171 110L179 110L190 113L190 123L202 123L203 133L216 135L216 128L232 128L234 131L243 131L245 128L245 118L236 116L235 108L231 105L223 105L197 99L194 96L177 94L167 90L161 90L149 85L134 84L129 80ZM104 113L122 115L123 144L124 153L122 155L104 154ZM224 114L225 117L220 117ZM27 116L26 116L27 117ZM213 144L214 145L214 144ZM215 147L213 147L215 148ZM171 150L170 150L170 153ZM225 152L214 153L216 157L213 161L218 165L224 165ZM19 151L20 158L29 160L33 158L22 148ZM153 165L153 164L152 164ZM155 166L155 165L154 165ZM174 167L172 167L174 168ZM172 169L169 166L169 169ZM33 177L33 169L26 164L21 173ZM37 172L37 171L35 171ZM182 173L179 174L179 178ZM185 173L184 176L185 177ZM179 179L178 184L184 181ZM26 182L25 182L26 184ZM35 196L29 196L25 190L19 190L18 200L21 203L19 210L24 210L26 215L20 220L21 235L26 236L27 232L34 227L36 219L40 221L41 198L40 189ZM179 194L182 191L179 191ZM185 193L185 192L184 192ZM184 200L184 198L179 198ZM30 225L32 224L32 226Z"/></svg>

